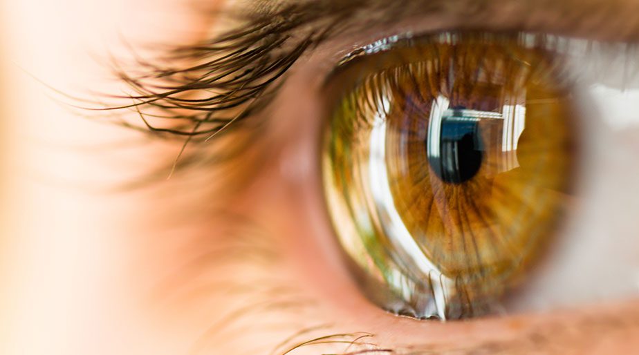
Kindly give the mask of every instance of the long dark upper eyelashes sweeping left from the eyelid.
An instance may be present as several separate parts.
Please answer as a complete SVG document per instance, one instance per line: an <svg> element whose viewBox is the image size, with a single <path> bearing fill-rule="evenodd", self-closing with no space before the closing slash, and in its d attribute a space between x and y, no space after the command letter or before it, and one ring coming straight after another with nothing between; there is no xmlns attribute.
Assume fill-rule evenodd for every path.
<svg viewBox="0 0 639 355"><path fill-rule="evenodd" d="M112 75L126 86L124 95L98 93L91 99L43 84L55 95L70 99L68 106L80 110L76 111L79 116L106 116L124 128L182 142L173 162L169 166L161 162L158 169L142 177L142 184L163 180L167 177L166 168L170 177L188 168L237 162L248 146L256 145L254 128L260 122L244 130L250 137L234 135L221 144L198 145L189 152L185 148L192 142L214 140L216 135L221 137L219 133L235 131L244 122L253 122L248 119L270 104L290 66L331 37L349 10L360 2L311 1L292 3L268 13L225 13L239 20L240 25L209 41L169 46L157 50L160 55L151 60L131 49L132 66L124 66L124 61L117 58L111 61ZM187 97L207 90L216 92L203 99ZM95 115L97 112L102 114ZM122 187L140 185L132 182Z"/></svg>

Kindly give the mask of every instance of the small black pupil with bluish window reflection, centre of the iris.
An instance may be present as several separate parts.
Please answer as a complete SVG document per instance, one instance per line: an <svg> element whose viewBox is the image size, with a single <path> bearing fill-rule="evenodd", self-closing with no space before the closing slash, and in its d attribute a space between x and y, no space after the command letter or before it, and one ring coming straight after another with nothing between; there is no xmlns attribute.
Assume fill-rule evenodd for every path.
<svg viewBox="0 0 639 355"><path fill-rule="evenodd" d="M464 117L464 111L454 108L441 118L439 134L429 134L426 146L438 145L438 150L428 149L428 160L434 173L450 184L461 184L479 172L483 154L479 119Z"/></svg>

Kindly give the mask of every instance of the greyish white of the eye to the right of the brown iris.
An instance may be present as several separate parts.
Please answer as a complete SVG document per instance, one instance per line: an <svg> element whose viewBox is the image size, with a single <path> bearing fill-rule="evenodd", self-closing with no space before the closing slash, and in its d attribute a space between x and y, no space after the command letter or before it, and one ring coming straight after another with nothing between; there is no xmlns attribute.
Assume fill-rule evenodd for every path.
<svg viewBox="0 0 639 355"><path fill-rule="evenodd" d="M546 262L508 309L554 309L639 291L639 60L627 46L593 46L568 63L581 140L573 215Z"/></svg>

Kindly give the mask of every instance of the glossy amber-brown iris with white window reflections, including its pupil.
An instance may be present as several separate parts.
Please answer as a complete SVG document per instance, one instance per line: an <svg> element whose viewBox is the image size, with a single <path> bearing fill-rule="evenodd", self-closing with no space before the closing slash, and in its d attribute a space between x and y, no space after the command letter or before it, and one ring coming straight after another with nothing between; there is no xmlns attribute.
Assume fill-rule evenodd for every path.
<svg viewBox="0 0 639 355"><path fill-rule="evenodd" d="M476 32L392 39L336 71L328 211L380 307L440 319L497 311L552 247L577 140L553 43Z"/></svg>

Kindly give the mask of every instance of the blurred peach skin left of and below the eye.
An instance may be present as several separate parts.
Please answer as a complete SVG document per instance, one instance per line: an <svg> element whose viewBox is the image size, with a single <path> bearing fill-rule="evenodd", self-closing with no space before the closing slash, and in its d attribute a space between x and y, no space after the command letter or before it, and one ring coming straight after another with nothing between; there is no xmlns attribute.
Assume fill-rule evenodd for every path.
<svg viewBox="0 0 639 355"><path fill-rule="evenodd" d="M108 92L113 83L92 53L127 52L118 32L133 43L189 43L215 19L193 21L189 1L42 2L9 0L0 11L9 28L1 354L278 354L336 334L328 340L338 343L293 354L639 354L636 300L447 324L368 303L336 252L309 162L321 117L306 83L317 81L321 53L274 102L272 154L239 192L209 196L214 180L194 185L183 175L188 184L178 176L126 193L96 188L135 179L179 144L74 116L33 77ZM605 231L611 220L593 223Z"/></svg>

